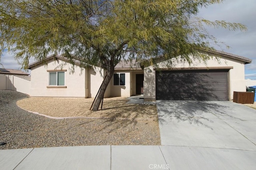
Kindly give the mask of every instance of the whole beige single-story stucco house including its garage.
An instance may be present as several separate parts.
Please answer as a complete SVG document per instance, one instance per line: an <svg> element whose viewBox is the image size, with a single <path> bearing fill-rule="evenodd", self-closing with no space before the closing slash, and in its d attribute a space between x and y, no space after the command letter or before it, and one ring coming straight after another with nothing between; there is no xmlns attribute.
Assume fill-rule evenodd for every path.
<svg viewBox="0 0 256 170"><path fill-rule="evenodd" d="M207 51L207 63L192 64L174 60L171 68L165 61L143 68L139 64L121 61L108 85L105 97L144 94L145 99L156 100L232 100L234 91L246 91L244 64L252 60L225 53ZM61 55L49 56L45 66L32 63L30 96L82 97L96 96L106 71L100 67L81 69Z"/></svg>

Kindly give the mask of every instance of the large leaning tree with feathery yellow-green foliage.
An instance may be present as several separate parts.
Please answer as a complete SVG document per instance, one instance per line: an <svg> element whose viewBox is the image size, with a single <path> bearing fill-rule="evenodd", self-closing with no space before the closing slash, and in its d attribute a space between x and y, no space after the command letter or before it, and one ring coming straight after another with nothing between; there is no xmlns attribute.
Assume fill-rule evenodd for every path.
<svg viewBox="0 0 256 170"><path fill-rule="evenodd" d="M50 53L78 57L104 68L104 79L92 110L122 59L137 62L180 56L206 61L198 53L212 49L215 38L204 25L246 30L239 23L197 18L199 9L223 0L5 0L0 2L0 54L11 50L28 68L30 57L44 61ZM193 56L191 59L190 56Z"/></svg>

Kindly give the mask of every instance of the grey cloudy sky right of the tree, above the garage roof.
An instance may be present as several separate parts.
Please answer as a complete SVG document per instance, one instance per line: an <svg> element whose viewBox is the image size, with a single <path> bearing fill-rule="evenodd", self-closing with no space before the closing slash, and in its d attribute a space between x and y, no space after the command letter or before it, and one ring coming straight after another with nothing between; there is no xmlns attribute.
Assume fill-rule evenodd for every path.
<svg viewBox="0 0 256 170"><path fill-rule="evenodd" d="M255 0L226 0L223 3L210 5L202 8L199 16L206 20L225 20L229 22L242 23L247 26L248 31L229 31L228 29L214 29L207 27L209 33L218 40L223 41L232 48L226 49L224 45L221 49L229 53L241 55L252 59L255 57L256 47L256 1Z"/></svg>

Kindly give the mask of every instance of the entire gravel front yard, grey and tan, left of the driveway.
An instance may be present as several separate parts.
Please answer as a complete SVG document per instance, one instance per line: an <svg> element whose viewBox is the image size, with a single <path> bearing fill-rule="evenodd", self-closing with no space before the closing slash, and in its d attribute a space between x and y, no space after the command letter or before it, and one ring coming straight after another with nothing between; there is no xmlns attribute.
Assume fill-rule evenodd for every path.
<svg viewBox="0 0 256 170"><path fill-rule="evenodd" d="M46 112L52 111L49 111L49 114L54 113L55 115L52 116L56 117L67 117L67 115L69 117L76 114L76 116L86 117L128 117L126 120L50 119L18 107L16 102L21 99L26 99L24 100L26 106L32 106L33 98L27 98L26 94L0 90L0 143L6 143L0 146L0 149L82 145L160 145L156 106L126 105L124 98L110 98L104 99L102 111L94 113L88 111L92 99L88 99L87 104L85 99L80 101L82 99L41 98L41 102L37 101L39 105L34 106L38 110L34 111L42 114L46 113L39 108ZM52 104L55 107L45 105L44 100L47 99L57 101ZM68 104L56 107L56 104L65 100L70 101ZM80 108L80 111L74 111L74 108ZM61 109L62 111L59 111Z"/></svg>

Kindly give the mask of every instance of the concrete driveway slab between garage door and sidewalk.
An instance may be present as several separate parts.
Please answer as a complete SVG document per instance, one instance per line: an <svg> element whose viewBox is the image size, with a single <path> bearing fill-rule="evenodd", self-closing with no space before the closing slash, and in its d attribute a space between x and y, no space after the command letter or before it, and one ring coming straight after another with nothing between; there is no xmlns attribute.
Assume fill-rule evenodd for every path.
<svg viewBox="0 0 256 170"><path fill-rule="evenodd" d="M158 100L161 145L256 149L256 110L233 102ZM251 123L253 124L253 123ZM246 126L247 125L247 126Z"/></svg>

